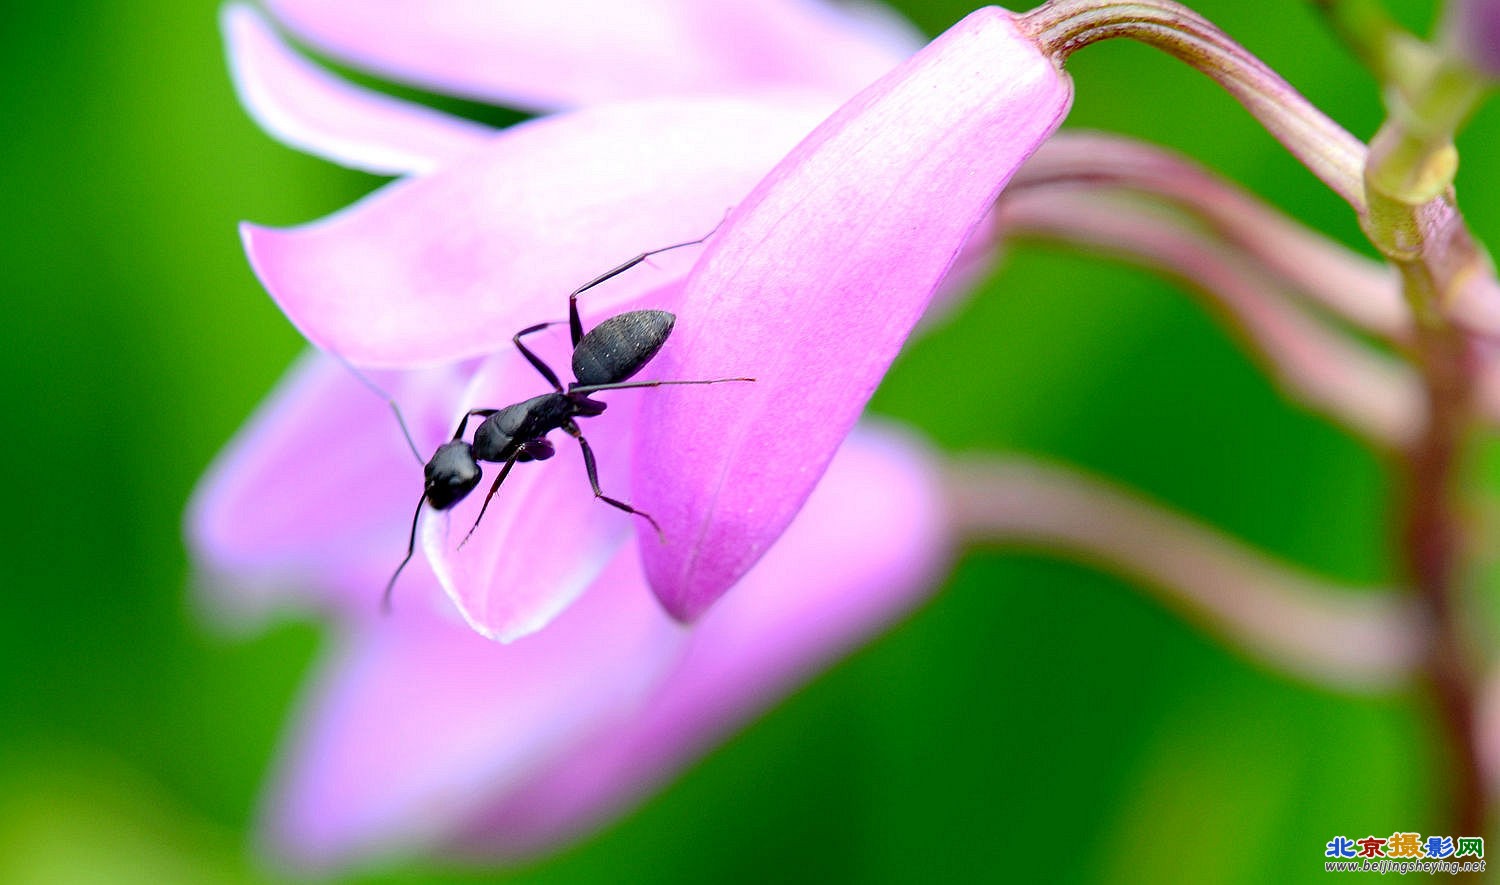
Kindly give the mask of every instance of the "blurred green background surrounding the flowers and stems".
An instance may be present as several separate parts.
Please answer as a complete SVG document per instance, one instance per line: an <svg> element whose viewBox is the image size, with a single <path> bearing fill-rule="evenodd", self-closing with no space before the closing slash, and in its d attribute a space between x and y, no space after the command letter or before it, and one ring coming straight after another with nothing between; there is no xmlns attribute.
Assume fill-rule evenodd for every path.
<svg viewBox="0 0 1500 885"><path fill-rule="evenodd" d="M900 6L928 33L969 9ZM1311 4L1196 6L1356 135L1374 130L1377 90ZM1432 3L1395 12L1425 32ZM236 222L320 218L380 182L260 134L214 16L171 0L0 10L8 885L274 880L249 820L320 632L206 628L182 508L302 346ZM1203 76L1137 45L1094 46L1070 70L1070 126L1176 146L1360 242ZM1500 112L1461 147L1464 207L1500 242L1484 189ZM1335 579L1392 574L1380 459L1282 402L1182 292L1125 267L1012 250L909 348L874 408L946 450L1116 477ZM507 874L356 880L1320 880L1336 834L1442 831L1440 762L1420 698L1298 684L1126 584L975 552L930 606L591 842Z"/></svg>

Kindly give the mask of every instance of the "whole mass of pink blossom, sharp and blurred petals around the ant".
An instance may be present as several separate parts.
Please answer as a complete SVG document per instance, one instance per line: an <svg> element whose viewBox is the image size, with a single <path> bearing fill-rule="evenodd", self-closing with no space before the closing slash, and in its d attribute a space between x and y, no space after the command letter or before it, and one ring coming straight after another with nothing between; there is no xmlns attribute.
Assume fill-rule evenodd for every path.
<svg viewBox="0 0 1500 885"><path fill-rule="evenodd" d="M370 370L424 452L465 410L543 390L516 330L560 318L566 292L610 262L700 236L734 207L699 255L585 296L585 326L636 306L678 314L651 376L758 378L615 392L586 422L606 492L652 513L668 543L646 526L624 544L632 518L592 500L562 441L554 464L507 478L462 549L482 495L426 510L424 556L396 616L378 618L418 471L386 405L322 357L294 370L192 507L226 604L310 598L344 615L268 808L280 850L312 866L534 850L639 795L932 585L945 544L926 458L888 432L844 438L1071 87L1000 9L826 117L894 63L888 27L872 42L868 22L790 0L658 0L651 26L686 42L657 69L618 57L636 44L609 22L640 15L618 4L596 10L616 38L603 42L472 3L346 6L270 3L304 39L393 76L590 105L488 132L340 82L248 8L225 14L242 96L273 132L411 172L312 225L248 225L244 240L292 322ZM555 344L544 358L566 366ZM504 640L555 622L498 646L452 610Z"/></svg>

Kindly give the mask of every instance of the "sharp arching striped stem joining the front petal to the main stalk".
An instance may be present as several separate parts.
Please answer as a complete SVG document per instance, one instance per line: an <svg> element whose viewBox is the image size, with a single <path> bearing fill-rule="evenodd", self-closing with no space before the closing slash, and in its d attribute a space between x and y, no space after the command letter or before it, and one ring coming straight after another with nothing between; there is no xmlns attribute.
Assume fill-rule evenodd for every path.
<svg viewBox="0 0 1500 885"><path fill-rule="evenodd" d="M1302 98L1260 58L1197 12L1170 0L1050 0L1022 27L1058 63L1108 38L1149 44L1208 74L1314 176L1365 212L1365 146Z"/></svg>

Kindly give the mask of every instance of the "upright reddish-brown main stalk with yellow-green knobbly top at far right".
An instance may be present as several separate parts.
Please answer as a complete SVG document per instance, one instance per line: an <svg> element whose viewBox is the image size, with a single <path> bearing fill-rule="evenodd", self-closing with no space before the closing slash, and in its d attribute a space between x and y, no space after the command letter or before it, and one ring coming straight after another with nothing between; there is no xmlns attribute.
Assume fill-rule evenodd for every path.
<svg viewBox="0 0 1500 885"><path fill-rule="evenodd" d="M1464 60L1431 46L1388 72L1389 116L1365 162L1370 242L1400 272L1416 321L1412 360L1428 420L1401 459L1400 548L1434 642L1426 680L1444 730L1454 822L1485 832L1488 790L1476 708L1480 663L1466 630L1458 476L1476 424L1479 360L1464 312L1492 298L1494 273L1456 207L1454 135L1485 93Z"/></svg>

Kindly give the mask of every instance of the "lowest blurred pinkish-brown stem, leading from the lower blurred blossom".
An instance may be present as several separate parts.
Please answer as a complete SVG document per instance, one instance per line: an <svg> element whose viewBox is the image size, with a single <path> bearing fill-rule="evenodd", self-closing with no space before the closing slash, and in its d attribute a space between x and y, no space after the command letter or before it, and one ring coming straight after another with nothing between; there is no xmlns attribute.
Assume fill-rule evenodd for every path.
<svg viewBox="0 0 1500 885"><path fill-rule="evenodd" d="M1125 576L1281 672L1346 692L1407 684L1426 654L1412 600L1340 586L1076 470L1020 456L948 465L954 531Z"/></svg>

